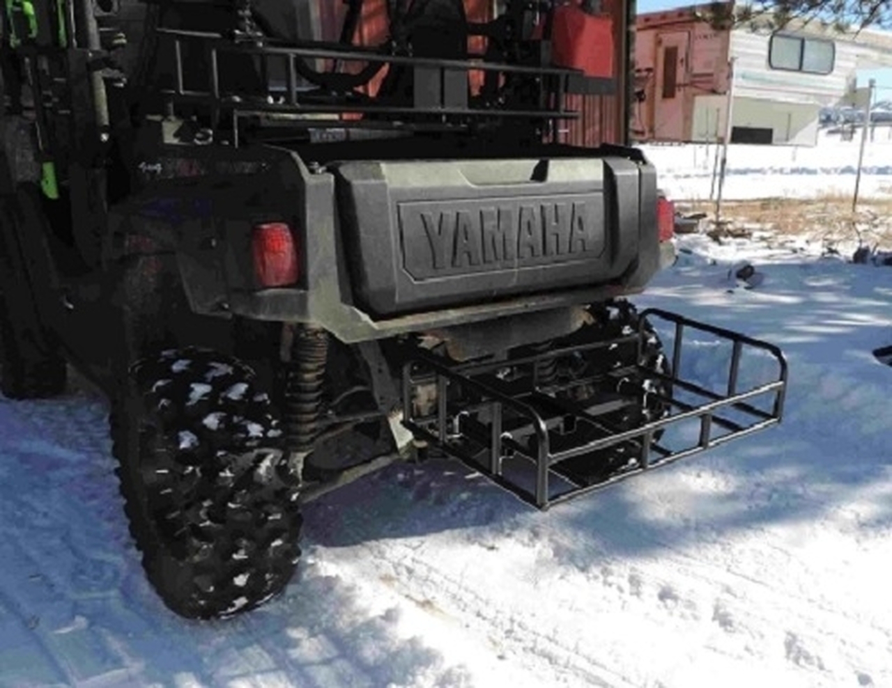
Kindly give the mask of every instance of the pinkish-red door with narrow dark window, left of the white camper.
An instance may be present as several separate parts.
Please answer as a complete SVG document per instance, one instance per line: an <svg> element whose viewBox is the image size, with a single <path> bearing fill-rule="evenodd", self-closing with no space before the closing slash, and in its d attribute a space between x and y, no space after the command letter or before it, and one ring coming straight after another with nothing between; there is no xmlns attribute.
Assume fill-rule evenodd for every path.
<svg viewBox="0 0 892 688"><path fill-rule="evenodd" d="M654 138L657 141L684 141L685 102L688 81L687 31L674 31L657 37L657 88L654 94Z"/></svg>

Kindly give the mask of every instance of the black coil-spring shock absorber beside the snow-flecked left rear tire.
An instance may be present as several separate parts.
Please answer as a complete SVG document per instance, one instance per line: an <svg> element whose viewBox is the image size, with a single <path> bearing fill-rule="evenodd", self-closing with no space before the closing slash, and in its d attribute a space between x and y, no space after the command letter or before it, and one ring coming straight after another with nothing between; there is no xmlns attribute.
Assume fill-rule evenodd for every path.
<svg viewBox="0 0 892 688"><path fill-rule="evenodd" d="M328 332L299 325L285 377L285 438L289 449L306 455L318 433L326 377Z"/></svg>

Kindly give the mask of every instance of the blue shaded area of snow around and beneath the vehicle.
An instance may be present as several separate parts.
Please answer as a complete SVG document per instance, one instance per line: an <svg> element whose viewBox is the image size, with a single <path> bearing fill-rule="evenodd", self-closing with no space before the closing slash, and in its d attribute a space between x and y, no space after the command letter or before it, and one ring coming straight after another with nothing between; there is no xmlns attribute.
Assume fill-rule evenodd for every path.
<svg viewBox="0 0 892 688"><path fill-rule="evenodd" d="M544 514L459 463L392 466L310 504L310 556L293 584L228 622L183 621L145 583L99 397L74 390L50 402L0 399L0 645L12 648L0 651L0 684L460 678L464 670L443 666L438 651L400 637L397 610L370 613L349 581L326 575L316 561L326 548L447 532L466 543L523 539L541 528L555 541L572 535L554 548L558 564L586 567L832 519L857 500L875 505L860 528L892 528L892 368L871 356L892 343L892 288L867 279L874 269L883 268L768 266L759 290L728 291L721 267L677 268L640 306L780 344L790 364L780 427Z"/></svg>

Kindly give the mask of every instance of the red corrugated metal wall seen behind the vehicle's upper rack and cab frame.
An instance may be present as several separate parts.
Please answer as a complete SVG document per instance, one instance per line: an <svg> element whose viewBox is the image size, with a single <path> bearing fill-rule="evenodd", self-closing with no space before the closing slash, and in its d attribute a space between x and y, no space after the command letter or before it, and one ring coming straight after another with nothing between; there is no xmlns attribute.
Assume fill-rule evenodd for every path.
<svg viewBox="0 0 892 688"><path fill-rule="evenodd" d="M316 0L321 23L322 40L335 41L341 35L345 5L333 0ZM464 0L469 21L483 22L491 19L491 0ZM599 143L622 143L624 135L625 90L627 58L624 54L625 42L622 32L625 27L626 0L605 0L604 11L609 12L614 21L614 64L618 72L615 95L574 95L570 96L569 107L580 111L581 119L565 122L561 126L560 140L582 146L596 146ZM386 0L366 0L363 5L362 20L354 42L358 45L381 45L387 37ZM482 53L483 38L471 42L471 50ZM359 69L361 65L345 65L347 70ZM384 73L379 74L369 86L374 94L380 86ZM480 83L481 75L471 76L472 88Z"/></svg>

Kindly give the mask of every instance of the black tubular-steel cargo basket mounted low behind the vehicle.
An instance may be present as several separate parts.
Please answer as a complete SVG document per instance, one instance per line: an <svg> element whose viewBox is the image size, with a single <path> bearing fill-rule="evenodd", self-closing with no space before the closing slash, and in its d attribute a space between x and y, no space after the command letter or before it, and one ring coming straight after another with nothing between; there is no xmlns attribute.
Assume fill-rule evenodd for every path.
<svg viewBox="0 0 892 688"><path fill-rule="evenodd" d="M668 325L669 329L663 332L673 338L673 344L666 348L672 366L667 373L643 364L646 342L654 336L648 321ZM403 366L404 424L418 440L440 448L524 502L546 510L552 504L667 466L780 422L788 376L780 348L656 308L641 313L637 332L629 330L614 340L485 363L456 364L424 349L413 349ZM728 349L718 391L682 374L690 367L682 367L682 352L686 340L692 339L691 332L709 337L711 346L704 348L707 353L718 351L719 347ZM615 367L586 381L558 386L541 385L538 380L541 366L559 356L593 353L621 344L630 346L632 341L638 345L636 363ZM765 372L767 368L769 379L743 385L741 381L747 377L744 359L754 356L762 364L756 366L759 370L755 372ZM519 383L506 380L508 369L524 366L530 374L521 376ZM574 387L604 382L607 378L622 394L582 403L567 397L566 392ZM648 384L624 387L624 381L629 380L651 384L649 389ZM425 385L436 386L437 400L436 410L427 411L422 417L416 414L415 399ZM458 390L460 401L455 400L454 392ZM662 404L662 417L628 430L607 422L607 416L617 408L640 404L647 395L652 396L651 401L656 397ZM681 446L674 446L679 443ZM605 450L623 446L632 450L632 460L597 479L579 479L567 471L561 472L563 462L603 456Z"/></svg>

